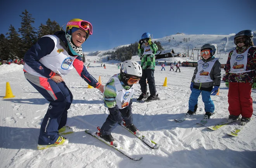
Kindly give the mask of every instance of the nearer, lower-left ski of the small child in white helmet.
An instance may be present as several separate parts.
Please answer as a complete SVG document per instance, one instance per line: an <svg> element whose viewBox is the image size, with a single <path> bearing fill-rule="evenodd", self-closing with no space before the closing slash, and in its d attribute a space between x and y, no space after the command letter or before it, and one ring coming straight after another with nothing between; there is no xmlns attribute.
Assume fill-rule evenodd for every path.
<svg viewBox="0 0 256 168"><path fill-rule="evenodd" d="M97 129L99 130L100 128L97 127ZM121 154L125 155L126 157L128 157L128 158L131 159L131 160L139 161L139 160L141 160L141 159L143 158L143 157L140 157L140 156L135 157L135 158L133 158L132 156L129 156L129 154L126 153L126 151L123 149L123 147L121 147L121 145L120 145L118 142L115 142L115 141L113 141L113 142L107 142L107 141L105 141L104 139L100 138L100 137L99 137L99 133L98 133L99 131L98 131L98 132L91 132L91 130L86 129L85 132L86 132L87 134L92 135L92 136L95 137L96 139L99 139L100 141L104 142L104 143L107 144L108 146L110 146L110 147L116 149L118 152L120 152Z"/></svg>

